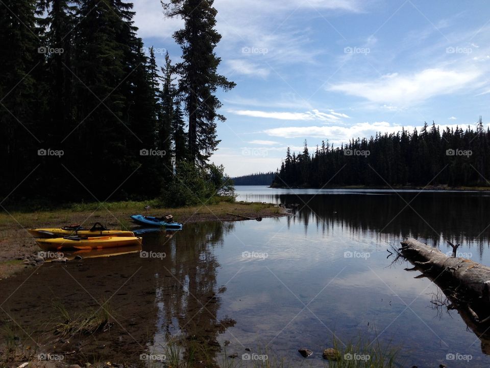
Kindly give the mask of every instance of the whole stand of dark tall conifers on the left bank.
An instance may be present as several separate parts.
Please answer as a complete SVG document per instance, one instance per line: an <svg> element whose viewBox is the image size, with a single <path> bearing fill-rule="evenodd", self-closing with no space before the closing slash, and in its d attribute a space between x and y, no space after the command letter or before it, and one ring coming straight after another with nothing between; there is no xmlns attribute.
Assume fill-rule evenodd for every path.
<svg viewBox="0 0 490 368"><path fill-rule="evenodd" d="M144 47L132 3L4 0L2 203L219 192L223 167L208 163L225 120L215 93L235 84L216 72L212 4L162 2L162 21L180 17L184 27L173 34L180 61L162 53L158 66L164 49Z"/></svg>

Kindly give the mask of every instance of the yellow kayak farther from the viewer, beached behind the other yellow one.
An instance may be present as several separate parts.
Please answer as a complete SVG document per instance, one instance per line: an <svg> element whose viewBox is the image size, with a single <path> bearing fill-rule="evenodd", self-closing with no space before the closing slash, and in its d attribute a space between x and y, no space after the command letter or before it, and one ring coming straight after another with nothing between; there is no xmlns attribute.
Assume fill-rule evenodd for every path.
<svg viewBox="0 0 490 368"><path fill-rule="evenodd" d="M97 226L99 225L99 226ZM91 228L83 228L81 225L71 225L65 227L52 228L36 228L29 229L29 234L34 238L57 238L64 236L81 236L81 237L97 237L97 236L113 236L113 237L134 237L134 233L125 230L109 230L99 222L95 223Z"/></svg>

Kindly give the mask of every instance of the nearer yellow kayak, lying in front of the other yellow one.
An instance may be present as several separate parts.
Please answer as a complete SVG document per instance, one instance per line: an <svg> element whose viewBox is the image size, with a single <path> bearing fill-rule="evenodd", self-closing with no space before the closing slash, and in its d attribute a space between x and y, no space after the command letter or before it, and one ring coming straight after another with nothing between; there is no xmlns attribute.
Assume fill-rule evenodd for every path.
<svg viewBox="0 0 490 368"><path fill-rule="evenodd" d="M53 238L36 239L36 243L42 250L67 250L67 249L104 249L127 246L141 246L142 238L139 237L88 237L88 238Z"/></svg>

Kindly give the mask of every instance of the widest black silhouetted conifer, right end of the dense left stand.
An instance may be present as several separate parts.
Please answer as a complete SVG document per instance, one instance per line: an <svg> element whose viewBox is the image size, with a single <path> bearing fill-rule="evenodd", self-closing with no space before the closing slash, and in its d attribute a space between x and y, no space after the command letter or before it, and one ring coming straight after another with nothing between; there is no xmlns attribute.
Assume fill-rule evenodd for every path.
<svg viewBox="0 0 490 368"><path fill-rule="evenodd" d="M157 158L140 154L154 148L156 118L148 60L136 36L132 7L118 0L84 1L79 12L83 21L74 31L78 126L69 140L77 156L69 170L84 177L84 186L97 197L111 195L121 183L120 190L141 191L138 176L127 179L140 163L150 170Z"/></svg>

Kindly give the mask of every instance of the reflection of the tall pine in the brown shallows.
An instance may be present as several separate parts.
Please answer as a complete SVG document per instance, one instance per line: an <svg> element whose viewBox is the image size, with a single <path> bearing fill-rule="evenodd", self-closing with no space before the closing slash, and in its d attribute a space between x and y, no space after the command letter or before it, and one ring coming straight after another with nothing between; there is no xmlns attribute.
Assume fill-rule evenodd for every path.
<svg viewBox="0 0 490 368"><path fill-rule="evenodd" d="M172 340L181 346L184 358L206 364L216 361L221 350L217 336L235 321L218 320L220 293L226 287L216 284L219 267L213 249L223 244L223 236L234 229L232 222L197 223L171 240L171 249L160 273L156 274L160 344ZM153 243L153 242L152 242ZM147 243L148 244L148 243ZM178 337L176 340L175 337Z"/></svg>

